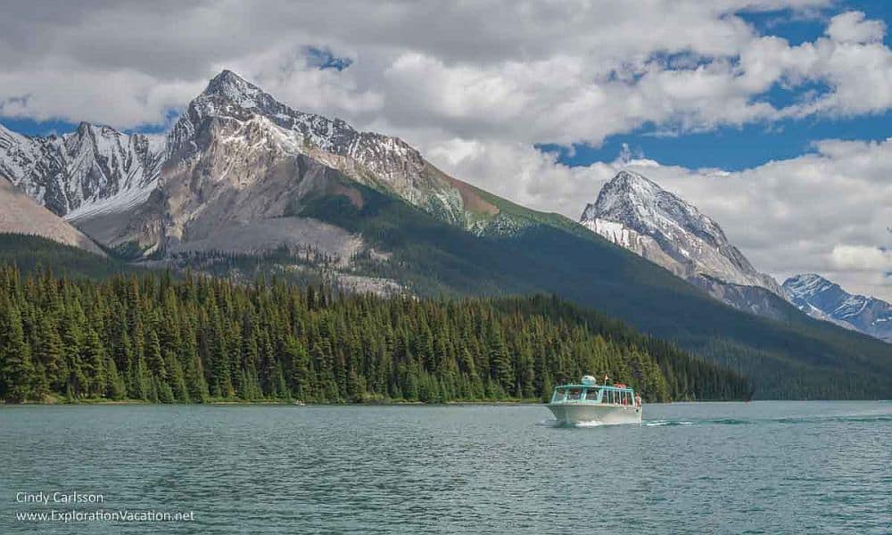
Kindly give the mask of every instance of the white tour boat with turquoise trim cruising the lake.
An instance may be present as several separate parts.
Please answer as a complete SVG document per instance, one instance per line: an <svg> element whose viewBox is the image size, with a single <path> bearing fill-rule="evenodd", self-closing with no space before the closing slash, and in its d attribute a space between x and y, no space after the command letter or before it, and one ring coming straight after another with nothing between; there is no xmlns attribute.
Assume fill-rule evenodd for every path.
<svg viewBox="0 0 892 535"><path fill-rule="evenodd" d="M548 407L561 424L641 423L641 398L632 388L598 384L591 375L580 384L556 386Z"/></svg>

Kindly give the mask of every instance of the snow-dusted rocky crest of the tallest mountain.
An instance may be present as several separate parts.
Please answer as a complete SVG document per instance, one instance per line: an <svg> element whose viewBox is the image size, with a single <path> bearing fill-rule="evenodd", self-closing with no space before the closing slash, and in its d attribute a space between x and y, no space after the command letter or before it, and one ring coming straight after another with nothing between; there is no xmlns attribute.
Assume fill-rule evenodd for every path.
<svg viewBox="0 0 892 535"><path fill-rule="evenodd" d="M396 137L360 132L341 119L294 110L230 70L211 79L202 94L189 103L169 134L169 159L187 160L221 136L244 139L233 133L245 131L248 122L253 123L252 131L273 140L283 154L310 155L363 184L397 193L452 222L464 217L457 188L443 180L409 144ZM211 128L216 134L211 134Z"/></svg>

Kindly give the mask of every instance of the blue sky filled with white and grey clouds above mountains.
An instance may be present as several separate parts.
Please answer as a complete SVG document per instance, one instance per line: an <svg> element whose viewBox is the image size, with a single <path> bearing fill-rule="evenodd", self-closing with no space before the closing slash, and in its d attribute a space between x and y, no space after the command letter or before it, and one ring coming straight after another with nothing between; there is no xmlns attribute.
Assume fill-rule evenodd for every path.
<svg viewBox="0 0 892 535"><path fill-rule="evenodd" d="M569 218L637 170L779 280L892 300L892 2L0 2L23 134L161 133L230 69Z"/></svg>

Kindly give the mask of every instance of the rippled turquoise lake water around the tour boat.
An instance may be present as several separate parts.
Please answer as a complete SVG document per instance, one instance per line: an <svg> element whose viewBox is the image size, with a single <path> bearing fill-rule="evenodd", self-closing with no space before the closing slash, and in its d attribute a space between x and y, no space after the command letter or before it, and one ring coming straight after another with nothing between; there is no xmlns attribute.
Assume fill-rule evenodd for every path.
<svg viewBox="0 0 892 535"><path fill-rule="evenodd" d="M0 533L892 533L892 403L644 417L568 429L542 406L0 407ZM103 503L54 501L75 492ZM194 520L17 518L72 509Z"/></svg>

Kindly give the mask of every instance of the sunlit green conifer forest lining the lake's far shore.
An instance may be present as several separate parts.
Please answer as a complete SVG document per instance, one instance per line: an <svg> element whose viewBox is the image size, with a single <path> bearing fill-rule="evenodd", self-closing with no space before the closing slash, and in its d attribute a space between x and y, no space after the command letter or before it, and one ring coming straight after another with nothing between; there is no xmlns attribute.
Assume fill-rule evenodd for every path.
<svg viewBox="0 0 892 535"><path fill-rule="evenodd" d="M609 374L648 401L751 393L739 374L555 297L381 298L280 279L0 268L9 402L533 400L582 374Z"/></svg>

